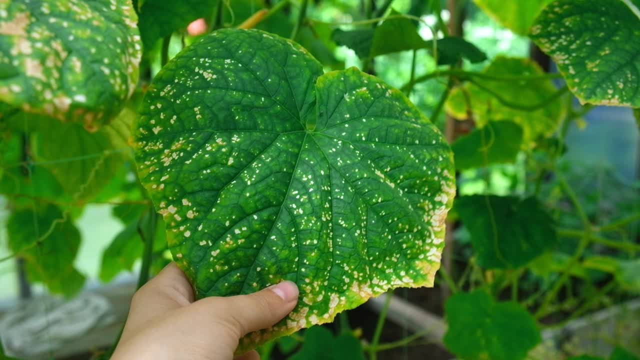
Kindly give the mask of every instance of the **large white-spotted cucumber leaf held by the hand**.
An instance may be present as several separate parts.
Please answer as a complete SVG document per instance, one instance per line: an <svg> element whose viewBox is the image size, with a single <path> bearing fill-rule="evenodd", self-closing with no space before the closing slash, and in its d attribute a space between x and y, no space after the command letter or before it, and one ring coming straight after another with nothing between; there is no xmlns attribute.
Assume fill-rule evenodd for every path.
<svg viewBox="0 0 640 360"><path fill-rule="evenodd" d="M452 153L380 79L323 74L294 42L224 29L159 72L136 140L140 179L196 297L298 284L296 309L241 348L391 288L433 285Z"/></svg>

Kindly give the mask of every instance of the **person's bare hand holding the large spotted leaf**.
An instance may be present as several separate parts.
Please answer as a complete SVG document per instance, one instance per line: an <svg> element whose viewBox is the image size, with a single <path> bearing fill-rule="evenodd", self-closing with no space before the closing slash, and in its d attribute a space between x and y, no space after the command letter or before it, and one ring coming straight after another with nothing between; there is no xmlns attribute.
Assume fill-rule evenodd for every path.
<svg viewBox="0 0 640 360"><path fill-rule="evenodd" d="M234 359L242 336L271 327L297 302L298 288L291 281L249 295L194 301L186 276L170 263L133 295L111 359ZM236 359L259 358L254 350Z"/></svg>

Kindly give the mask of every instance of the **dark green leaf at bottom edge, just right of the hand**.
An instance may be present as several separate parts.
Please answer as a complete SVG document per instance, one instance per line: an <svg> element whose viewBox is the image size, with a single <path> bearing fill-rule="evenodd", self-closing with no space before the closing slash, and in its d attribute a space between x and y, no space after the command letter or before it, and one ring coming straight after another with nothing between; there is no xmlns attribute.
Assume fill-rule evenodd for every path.
<svg viewBox="0 0 640 360"><path fill-rule="evenodd" d="M333 336L321 326L305 331L305 340L300 351L289 360L364 360L360 340L352 334Z"/></svg>

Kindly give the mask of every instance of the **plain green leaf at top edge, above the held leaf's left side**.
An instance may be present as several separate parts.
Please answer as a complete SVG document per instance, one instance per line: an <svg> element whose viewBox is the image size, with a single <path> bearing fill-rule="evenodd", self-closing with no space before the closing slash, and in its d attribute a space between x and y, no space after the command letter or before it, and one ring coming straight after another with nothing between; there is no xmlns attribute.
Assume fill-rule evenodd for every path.
<svg viewBox="0 0 640 360"><path fill-rule="evenodd" d="M186 29L193 20L211 17L218 1L222 0L145 0L138 22L145 52L161 38Z"/></svg>

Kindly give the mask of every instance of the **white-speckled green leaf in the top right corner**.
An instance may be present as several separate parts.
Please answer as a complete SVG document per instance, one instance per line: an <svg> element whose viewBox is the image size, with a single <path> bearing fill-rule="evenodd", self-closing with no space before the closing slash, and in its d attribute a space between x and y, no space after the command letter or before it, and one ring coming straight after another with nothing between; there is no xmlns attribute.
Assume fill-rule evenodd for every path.
<svg viewBox="0 0 640 360"><path fill-rule="evenodd" d="M580 102L640 106L639 0L556 0L531 28Z"/></svg>

